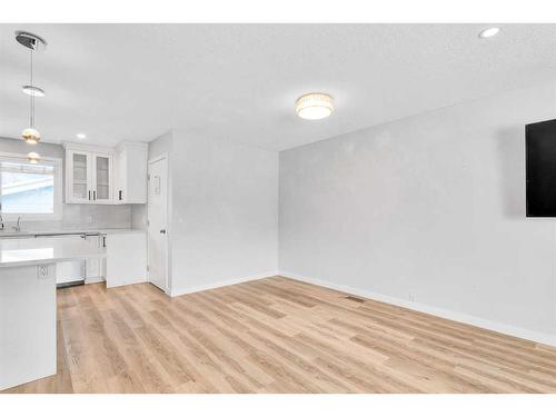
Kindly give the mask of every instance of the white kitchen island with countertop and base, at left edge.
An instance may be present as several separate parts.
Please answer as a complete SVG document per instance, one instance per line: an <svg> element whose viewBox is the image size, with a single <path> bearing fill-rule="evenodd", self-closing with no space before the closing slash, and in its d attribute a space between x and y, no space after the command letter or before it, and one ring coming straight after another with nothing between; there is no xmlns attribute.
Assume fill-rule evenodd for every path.
<svg viewBox="0 0 556 417"><path fill-rule="evenodd" d="M56 374L57 264L103 258L64 239L0 239L0 390Z"/></svg>

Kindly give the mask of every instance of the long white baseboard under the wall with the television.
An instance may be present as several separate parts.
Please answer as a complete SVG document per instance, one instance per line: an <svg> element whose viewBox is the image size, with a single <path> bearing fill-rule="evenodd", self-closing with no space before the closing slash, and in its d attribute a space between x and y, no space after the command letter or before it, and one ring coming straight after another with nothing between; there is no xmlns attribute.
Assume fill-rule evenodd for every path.
<svg viewBox="0 0 556 417"><path fill-rule="evenodd" d="M322 280L314 279L314 278L307 278L307 277L304 277L301 275L294 274L294 272L280 271L278 275L280 275L285 278L297 279L299 281L336 289L338 291L353 294L355 296L365 297L365 298L369 298L373 300L391 304L391 305L395 305L398 307L405 307L405 308L408 308L410 310L426 312L426 314L443 317L443 318L446 318L449 320L464 322L466 325L477 326L477 327L481 327L484 329L497 331L497 332L500 332L504 335L515 336L515 337L519 337L522 339L527 339L527 340L536 341L539 344L545 344L545 345L550 345L550 346L556 347L556 335L550 335L547 332L539 332L539 331L535 331L535 330L525 329L522 327L505 325L502 322L487 320L487 319L484 319L480 317L470 316L470 315L467 315L464 312L447 310L444 308L433 307L433 306L428 306L428 305L424 305L424 304L419 304L419 302L415 302L415 301L407 301L407 300L404 300L401 298L385 296L383 294L368 291L368 290L364 290L364 289L359 289L359 288L353 288L353 287L348 287L348 286L340 285L340 284L335 284L335 282L330 282L330 281L322 281Z"/></svg>

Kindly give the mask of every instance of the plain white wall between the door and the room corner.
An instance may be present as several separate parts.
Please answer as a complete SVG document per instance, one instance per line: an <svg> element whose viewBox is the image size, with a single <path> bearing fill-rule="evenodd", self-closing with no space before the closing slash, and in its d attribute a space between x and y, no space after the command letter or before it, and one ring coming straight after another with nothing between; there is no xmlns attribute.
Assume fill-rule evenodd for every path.
<svg viewBox="0 0 556 417"><path fill-rule="evenodd" d="M276 274L278 152L182 130L169 148L171 294Z"/></svg>

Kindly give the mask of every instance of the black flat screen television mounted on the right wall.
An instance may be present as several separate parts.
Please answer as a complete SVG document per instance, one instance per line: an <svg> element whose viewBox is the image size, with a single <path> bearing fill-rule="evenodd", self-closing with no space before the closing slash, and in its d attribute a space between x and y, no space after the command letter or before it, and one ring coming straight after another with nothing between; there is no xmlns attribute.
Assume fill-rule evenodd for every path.
<svg viewBox="0 0 556 417"><path fill-rule="evenodd" d="M556 119L526 125L526 216L556 217Z"/></svg>

